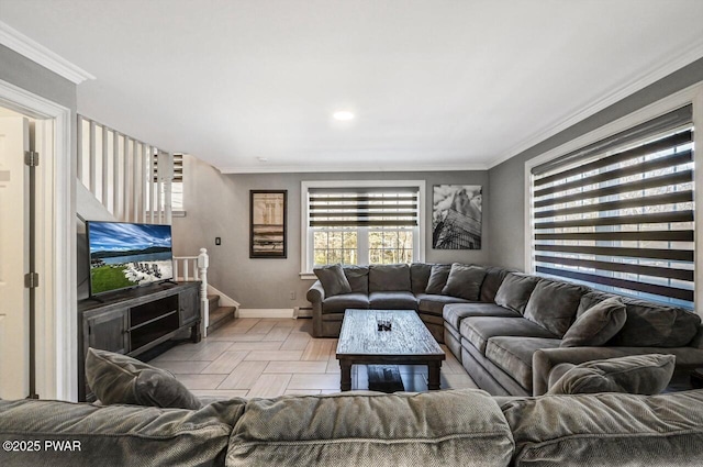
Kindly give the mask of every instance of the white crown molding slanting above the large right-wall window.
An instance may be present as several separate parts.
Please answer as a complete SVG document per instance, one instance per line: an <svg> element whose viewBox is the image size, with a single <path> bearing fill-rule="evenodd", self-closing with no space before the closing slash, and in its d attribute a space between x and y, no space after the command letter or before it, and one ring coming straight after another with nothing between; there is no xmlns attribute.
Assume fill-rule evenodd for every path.
<svg viewBox="0 0 703 467"><path fill-rule="evenodd" d="M562 119L556 124L545 127L544 130L535 133L533 136L522 141L521 143L513 146L509 149L503 156L496 158L495 160L489 163L487 167L489 169L504 163L507 159L515 157L516 155L523 153L524 151L529 149L531 147L546 141L547 138L562 132L563 130L588 119L589 116L594 115L609 108L610 105L620 102L628 96L634 94L637 91L643 90L647 86L650 86L658 80L671 75L672 73L683 68L687 65L692 64L699 58L703 57L703 38L690 47L683 49L681 54L674 56L672 59L666 62L662 65L656 66L650 69L648 73L639 77L638 79L627 82L623 86L620 86L610 92L606 92L601 99L593 102L591 105L588 105L571 115Z"/></svg>

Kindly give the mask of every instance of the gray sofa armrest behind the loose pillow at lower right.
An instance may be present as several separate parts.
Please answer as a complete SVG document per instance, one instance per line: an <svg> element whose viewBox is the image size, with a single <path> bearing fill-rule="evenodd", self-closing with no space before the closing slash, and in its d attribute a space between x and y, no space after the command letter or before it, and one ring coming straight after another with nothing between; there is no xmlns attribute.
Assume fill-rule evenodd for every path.
<svg viewBox="0 0 703 467"><path fill-rule="evenodd" d="M695 347L558 347L540 348L532 356L533 396L542 396L549 389L549 374L559 364L579 365L591 360L625 357L627 355L671 354L677 367L703 366L703 349Z"/></svg>

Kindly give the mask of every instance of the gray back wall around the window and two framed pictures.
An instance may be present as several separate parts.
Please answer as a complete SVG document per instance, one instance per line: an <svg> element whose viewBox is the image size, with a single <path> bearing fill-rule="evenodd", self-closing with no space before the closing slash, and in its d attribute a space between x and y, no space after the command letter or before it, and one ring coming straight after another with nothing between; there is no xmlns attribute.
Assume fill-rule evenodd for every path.
<svg viewBox="0 0 703 467"><path fill-rule="evenodd" d="M243 308L289 309L308 307L305 292L311 280L300 273L300 182L301 180L426 180L427 215L425 260L429 263L479 263L489 259L487 235L488 173L330 173L221 175L216 169L186 157L186 218L174 219L176 255L194 255L200 247L210 253L209 280ZM439 184L467 184L483 187L483 245L480 251L432 249L432 187ZM288 258L249 258L249 190L288 190ZM222 245L215 246L215 236ZM295 292L295 300L290 292Z"/></svg>

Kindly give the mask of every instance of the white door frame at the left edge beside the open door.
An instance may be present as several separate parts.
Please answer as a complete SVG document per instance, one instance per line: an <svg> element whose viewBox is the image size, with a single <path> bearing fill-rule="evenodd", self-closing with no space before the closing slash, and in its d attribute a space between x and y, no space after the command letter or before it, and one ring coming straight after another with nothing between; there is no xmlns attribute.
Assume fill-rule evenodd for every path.
<svg viewBox="0 0 703 467"><path fill-rule="evenodd" d="M36 391L76 401L78 331L76 279L76 165L71 110L0 80L0 105L36 120L40 154L36 203ZM53 126L53 132L52 132Z"/></svg>

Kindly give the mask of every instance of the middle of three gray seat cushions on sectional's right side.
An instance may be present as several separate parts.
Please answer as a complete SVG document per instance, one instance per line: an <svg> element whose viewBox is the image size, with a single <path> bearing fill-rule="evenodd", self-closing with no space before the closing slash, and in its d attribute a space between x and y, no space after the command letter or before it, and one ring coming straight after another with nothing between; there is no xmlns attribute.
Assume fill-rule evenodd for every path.
<svg viewBox="0 0 703 467"><path fill-rule="evenodd" d="M461 337L473 344L481 354L486 354L489 338L496 336L545 337L556 338L549 331L544 330L524 318L503 316L469 316L459 326Z"/></svg>

